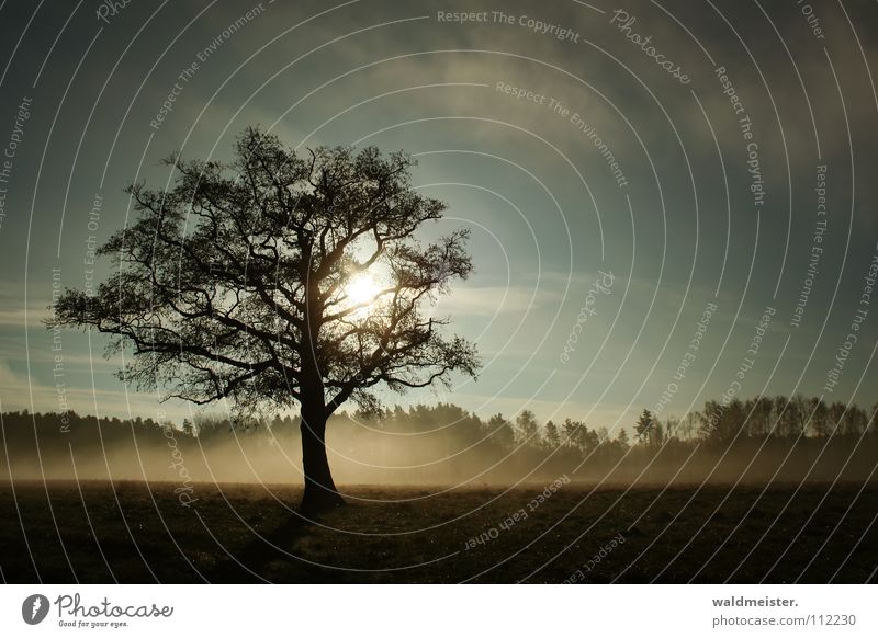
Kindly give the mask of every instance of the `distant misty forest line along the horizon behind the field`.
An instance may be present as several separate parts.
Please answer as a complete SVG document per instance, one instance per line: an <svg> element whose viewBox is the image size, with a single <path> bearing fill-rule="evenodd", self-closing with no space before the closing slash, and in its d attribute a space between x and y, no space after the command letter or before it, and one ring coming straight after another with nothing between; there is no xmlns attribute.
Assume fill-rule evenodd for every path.
<svg viewBox="0 0 878 638"><path fill-rule="evenodd" d="M615 435L525 410L487 420L450 403L330 419L330 460L342 482L473 483L871 479L878 406L817 398L708 401L683 420L643 410ZM194 422L101 419L74 412L0 415L0 480L301 480L300 420Z"/></svg>

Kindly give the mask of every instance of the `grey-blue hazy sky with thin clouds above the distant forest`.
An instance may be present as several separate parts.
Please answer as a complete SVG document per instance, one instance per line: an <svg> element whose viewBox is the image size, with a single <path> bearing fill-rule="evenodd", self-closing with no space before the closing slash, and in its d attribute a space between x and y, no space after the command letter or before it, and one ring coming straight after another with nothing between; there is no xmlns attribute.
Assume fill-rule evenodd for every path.
<svg viewBox="0 0 878 638"><path fill-rule="evenodd" d="M418 159L471 229L437 312L476 380L389 405L630 425L762 394L878 401L874 3L0 4L0 408L182 418L53 292L99 282L160 159L260 125ZM4 163L2 163L4 162ZM870 283L873 282L873 283ZM223 410L223 407L217 407Z"/></svg>

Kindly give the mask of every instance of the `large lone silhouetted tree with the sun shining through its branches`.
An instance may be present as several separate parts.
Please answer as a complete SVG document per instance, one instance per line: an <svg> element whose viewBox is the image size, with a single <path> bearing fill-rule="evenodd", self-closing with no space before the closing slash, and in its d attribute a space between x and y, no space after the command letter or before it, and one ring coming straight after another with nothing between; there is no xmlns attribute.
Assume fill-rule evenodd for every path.
<svg viewBox="0 0 878 638"><path fill-rule="evenodd" d="M139 218L98 251L114 274L93 295L67 290L57 323L113 335L111 351L134 353L121 378L168 398L227 398L241 413L297 406L302 509L342 504L326 455L330 414L349 399L376 410L380 387L475 376L475 348L425 311L472 271L468 232L413 237L446 206L414 191L403 152L300 156L248 128L228 163L166 163L173 187L127 189Z"/></svg>

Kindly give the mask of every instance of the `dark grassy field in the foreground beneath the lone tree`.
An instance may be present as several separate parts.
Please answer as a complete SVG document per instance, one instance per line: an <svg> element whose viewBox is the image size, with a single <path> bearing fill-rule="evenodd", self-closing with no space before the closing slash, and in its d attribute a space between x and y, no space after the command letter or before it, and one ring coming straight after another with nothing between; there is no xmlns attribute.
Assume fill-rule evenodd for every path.
<svg viewBox="0 0 878 638"><path fill-rule="evenodd" d="M14 488L14 492L13 492ZM8 582L866 582L878 486L346 487L314 523L281 486L0 485ZM504 493L505 492L505 493ZM526 517L510 525L520 512ZM22 523L23 522L23 523ZM475 543L472 538L485 539ZM621 536L619 536L621 535ZM616 542L614 544L614 538ZM621 542L623 539L623 543ZM615 545L615 546L614 546ZM609 549L607 547L609 546ZM468 548L471 547L471 548ZM601 551L603 549L603 551ZM603 556L601 556L603 554ZM596 561L596 557L600 560ZM590 562L589 562L590 561ZM590 568L590 569L589 569ZM577 573L578 570L578 573ZM574 576L575 574L575 576Z"/></svg>

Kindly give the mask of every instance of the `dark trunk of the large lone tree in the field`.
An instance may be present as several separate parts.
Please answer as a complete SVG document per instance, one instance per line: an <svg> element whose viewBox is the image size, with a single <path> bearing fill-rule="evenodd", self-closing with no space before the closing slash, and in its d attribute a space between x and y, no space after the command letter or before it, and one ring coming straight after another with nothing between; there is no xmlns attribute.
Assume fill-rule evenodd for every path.
<svg viewBox="0 0 878 638"><path fill-rule="evenodd" d="M317 414L315 414L317 412ZM305 474L305 492L302 495L303 514L316 514L345 504L338 493L326 458L326 417L320 411L302 409L302 468Z"/></svg>

